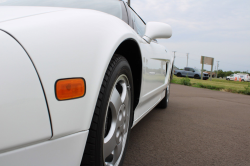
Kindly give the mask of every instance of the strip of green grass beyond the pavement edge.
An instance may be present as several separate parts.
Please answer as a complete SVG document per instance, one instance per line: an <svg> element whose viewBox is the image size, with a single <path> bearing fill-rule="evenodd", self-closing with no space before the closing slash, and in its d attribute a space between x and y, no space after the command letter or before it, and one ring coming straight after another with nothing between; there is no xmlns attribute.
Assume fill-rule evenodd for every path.
<svg viewBox="0 0 250 166"><path fill-rule="evenodd" d="M210 81L210 79L200 80L200 79L174 76L171 83L187 85L197 88L206 88L212 90L220 90L220 91L250 95L250 83L248 82L227 81L217 78L214 78L212 79L212 81Z"/></svg>

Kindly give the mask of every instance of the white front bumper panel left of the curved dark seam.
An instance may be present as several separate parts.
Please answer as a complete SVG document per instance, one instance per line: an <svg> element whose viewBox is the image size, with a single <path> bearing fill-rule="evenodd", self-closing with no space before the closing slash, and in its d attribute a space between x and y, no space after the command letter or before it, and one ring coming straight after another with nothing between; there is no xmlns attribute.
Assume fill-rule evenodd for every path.
<svg viewBox="0 0 250 166"><path fill-rule="evenodd" d="M0 153L48 140L49 114L35 68L23 48L3 31L0 73Z"/></svg>

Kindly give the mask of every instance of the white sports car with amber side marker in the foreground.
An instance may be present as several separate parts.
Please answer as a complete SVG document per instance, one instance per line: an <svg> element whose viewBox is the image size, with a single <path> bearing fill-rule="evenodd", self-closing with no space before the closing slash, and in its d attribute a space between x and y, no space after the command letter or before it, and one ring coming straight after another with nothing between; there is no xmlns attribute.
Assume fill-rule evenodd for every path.
<svg viewBox="0 0 250 166"><path fill-rule="evenodd" d="M0 0L0 165L122 165L173 56L119 0Z"/></svg>

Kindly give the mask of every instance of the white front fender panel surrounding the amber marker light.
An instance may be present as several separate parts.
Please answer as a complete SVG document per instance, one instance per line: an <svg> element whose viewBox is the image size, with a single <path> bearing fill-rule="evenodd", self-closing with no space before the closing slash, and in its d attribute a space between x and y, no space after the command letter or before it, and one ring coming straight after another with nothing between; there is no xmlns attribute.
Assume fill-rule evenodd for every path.
<svg viewBox="0 0 250 166"><path fill-rule="evenodd" d="M88 130L107 66L126 39L136 33L122 20L94 10L67 9L0 24L26 49L44 86L53 138ZM138 41L137 41L138 42ZM83 77L86 95L58 101L58 79Z"/></svg>

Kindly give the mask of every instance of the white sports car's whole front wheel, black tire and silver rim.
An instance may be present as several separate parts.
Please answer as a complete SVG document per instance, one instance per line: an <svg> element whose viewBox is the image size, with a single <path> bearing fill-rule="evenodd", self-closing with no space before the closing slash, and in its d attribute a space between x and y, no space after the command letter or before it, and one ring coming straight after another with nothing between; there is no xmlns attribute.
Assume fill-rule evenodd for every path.
<svg viewBox="0 0 250 166"><path fill-rule="evenodd" d="M81 166L122 165L132 126L133 79L127 60L114 55L99 92Z"/></svg>

